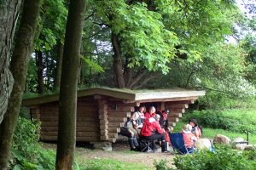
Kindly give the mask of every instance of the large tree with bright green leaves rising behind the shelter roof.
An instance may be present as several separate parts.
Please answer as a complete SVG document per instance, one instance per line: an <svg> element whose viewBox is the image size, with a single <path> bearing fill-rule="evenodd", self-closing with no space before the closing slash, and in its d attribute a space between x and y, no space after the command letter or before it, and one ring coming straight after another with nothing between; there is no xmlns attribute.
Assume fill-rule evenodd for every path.
<svg viewBox="0 0 256 170"><path fill-rule="evenodd" d="M119 88L137 88L158 72L166 74L175 58L200 59L204 47L231 33L236 12L232 1L210 0L107 0L96 1L95 8L95 23L110 30Z"/></svg>

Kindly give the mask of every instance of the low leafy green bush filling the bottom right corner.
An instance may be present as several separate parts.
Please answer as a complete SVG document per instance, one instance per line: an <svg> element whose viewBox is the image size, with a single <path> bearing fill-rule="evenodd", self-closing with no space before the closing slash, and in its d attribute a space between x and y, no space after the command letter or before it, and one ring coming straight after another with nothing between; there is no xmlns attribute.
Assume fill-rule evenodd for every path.
<svg viewBox="0 0 256 170"><path fill-rule="evenodd" d="M250 161L230 146L217 146L214 153L207 150L195 152L193 156L177 156L174 158L174 164L180 170L195 169L253 169L255 161Z"/></svg>

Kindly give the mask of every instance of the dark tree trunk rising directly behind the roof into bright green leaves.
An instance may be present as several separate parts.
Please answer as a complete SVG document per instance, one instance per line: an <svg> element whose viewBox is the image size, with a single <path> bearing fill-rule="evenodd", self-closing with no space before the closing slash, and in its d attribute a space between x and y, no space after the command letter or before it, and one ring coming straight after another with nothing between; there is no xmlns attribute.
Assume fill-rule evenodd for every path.
<svg viewBox="0 0 256 170"><path fill-rule="evenodd" d="M111 41L113 45L113 69L118 88L125 88L125 80L123 75L123 62L121 57L121 49L119 37L112 32Z"/></svg>

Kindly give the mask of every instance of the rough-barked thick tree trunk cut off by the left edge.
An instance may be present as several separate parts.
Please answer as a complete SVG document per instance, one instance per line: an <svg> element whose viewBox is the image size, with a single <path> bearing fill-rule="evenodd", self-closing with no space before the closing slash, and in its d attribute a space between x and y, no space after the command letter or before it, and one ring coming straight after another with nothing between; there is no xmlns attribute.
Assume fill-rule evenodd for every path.
<svg viewBox="0 0 256 170"><path fill-rule="evenodd" d="M0 6L0 124L7 110L9 95L13 88L9 61L21 4L19 0L5 0L3 2L5 3Z"/></svg>

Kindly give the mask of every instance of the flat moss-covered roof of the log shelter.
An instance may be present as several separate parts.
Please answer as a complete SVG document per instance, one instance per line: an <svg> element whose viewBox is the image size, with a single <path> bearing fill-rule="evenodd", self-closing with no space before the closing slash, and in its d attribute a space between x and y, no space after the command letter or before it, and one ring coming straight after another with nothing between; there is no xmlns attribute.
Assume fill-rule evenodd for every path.
<svg viewBox="0 0 256 170"><path fill-rule="evenodd" d="M127 101L166 101L166 99L182 100L182 99L197 99L204 96L204 90L188 90L182 88L176 89L143 89L143 90L130 90L119 88L87 88L78 91L78 97L92 96L92 95L109 96L115 99L122 99ZM23 106L40 105L44 103L54 102L59 100L59 94L51 94L40 96L36 98L23 99Z"/></svg>

